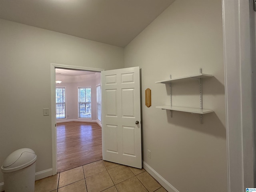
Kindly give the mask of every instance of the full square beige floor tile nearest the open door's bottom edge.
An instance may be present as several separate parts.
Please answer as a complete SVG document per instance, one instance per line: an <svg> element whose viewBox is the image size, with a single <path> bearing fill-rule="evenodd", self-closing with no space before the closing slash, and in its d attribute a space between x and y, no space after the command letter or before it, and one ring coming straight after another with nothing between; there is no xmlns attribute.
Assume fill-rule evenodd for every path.
<svg viewBox="0 0 256 192"><path fill-rule="evenodd" d="M114 167L108 170L108 173L115 185L134 176L132 171L124 165Z"/></svg>

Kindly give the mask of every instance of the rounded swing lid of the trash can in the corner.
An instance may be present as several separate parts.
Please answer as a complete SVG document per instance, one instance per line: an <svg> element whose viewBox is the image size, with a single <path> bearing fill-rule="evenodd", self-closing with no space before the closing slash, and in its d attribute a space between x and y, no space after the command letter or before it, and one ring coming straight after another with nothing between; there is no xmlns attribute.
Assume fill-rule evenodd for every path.
<svg viewBox="0 0 256 192"><path fill-rule="evenodd" d="M12 152L1 167L2 172L9 173L30 166L36 161L36 154L32 149L22 148Z"/></svg>

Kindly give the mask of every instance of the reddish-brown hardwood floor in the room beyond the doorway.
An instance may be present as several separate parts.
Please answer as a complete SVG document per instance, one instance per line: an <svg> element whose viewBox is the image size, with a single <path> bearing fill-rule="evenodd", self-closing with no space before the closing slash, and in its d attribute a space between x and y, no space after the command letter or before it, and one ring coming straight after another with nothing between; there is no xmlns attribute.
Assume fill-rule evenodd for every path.
<svg viewBox="0 0 256 192"><path fill-rule="evenodd" d="M57 172L101 159L102 135L97 123L57 124Z"/></svg>

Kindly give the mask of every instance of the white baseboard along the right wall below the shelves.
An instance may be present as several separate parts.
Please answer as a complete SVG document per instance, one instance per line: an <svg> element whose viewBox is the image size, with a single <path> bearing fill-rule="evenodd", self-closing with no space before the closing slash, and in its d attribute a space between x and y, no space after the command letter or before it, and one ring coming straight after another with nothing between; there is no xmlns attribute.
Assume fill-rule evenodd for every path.
<svg viewBox="0 0 256 192"><path fill-rule="evenodd" d="M158 181L168 192L179 192L174 186L168 183L160 174L143 161L143 168Z"/></svg>

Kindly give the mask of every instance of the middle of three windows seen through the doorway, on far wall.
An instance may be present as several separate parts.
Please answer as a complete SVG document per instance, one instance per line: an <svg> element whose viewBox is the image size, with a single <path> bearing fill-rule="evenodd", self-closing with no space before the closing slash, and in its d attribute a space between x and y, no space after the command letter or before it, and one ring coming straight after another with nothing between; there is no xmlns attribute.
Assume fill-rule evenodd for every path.
<svg viewBox="0 0 256 192"><path fill-rule="evenodd" d="M78 117L92 118L91 88L78 88Z"/></svg>

